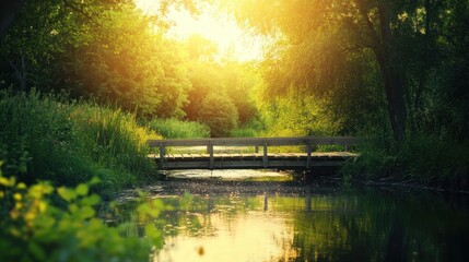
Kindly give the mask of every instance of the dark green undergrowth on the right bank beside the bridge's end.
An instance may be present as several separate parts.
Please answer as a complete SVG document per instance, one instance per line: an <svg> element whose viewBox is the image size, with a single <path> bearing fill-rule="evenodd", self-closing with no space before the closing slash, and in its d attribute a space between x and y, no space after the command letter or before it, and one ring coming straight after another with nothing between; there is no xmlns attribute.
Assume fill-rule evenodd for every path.
<svg viewBox="0 0 469 262"><path fill-rule="evenodd" d="M400 146L374 136L357 148L360 157L341 170L345 180L400 181L445 189L469 188L469 143L436 135L412 135Z"/></svg>

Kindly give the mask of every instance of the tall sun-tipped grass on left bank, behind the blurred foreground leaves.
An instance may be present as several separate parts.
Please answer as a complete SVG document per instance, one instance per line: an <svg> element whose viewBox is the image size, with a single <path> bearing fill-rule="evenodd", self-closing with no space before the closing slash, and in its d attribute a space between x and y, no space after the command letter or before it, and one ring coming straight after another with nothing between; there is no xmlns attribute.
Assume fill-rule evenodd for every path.
<svg viewBox="0 0 469 262"><path fill-rule="evenodd" d="M109 193L145 182L154 170L145 142L155 134L118 109L1 91L0 122L2 170L28 183L73 186L97 176Z"/></svg>

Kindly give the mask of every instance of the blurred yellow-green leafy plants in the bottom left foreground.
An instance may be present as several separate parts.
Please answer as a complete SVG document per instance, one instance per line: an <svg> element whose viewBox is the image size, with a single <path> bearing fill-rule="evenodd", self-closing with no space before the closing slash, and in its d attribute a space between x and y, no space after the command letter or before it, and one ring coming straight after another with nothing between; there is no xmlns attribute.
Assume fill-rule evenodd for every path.
<svg viewBox="0 0 469 262"><path fill-rule="evenodd" d="M90 194L90 187L97 182L93 179L75 188L47 182L27 187L0 170L0 260L148 261L151 246L161 245L162 235L151 224L145 227L145 239L122 236L122 226L108 227L97 216L101 198ZM154 219L160 207L165 209L140 209L140 216Z"/></svg>

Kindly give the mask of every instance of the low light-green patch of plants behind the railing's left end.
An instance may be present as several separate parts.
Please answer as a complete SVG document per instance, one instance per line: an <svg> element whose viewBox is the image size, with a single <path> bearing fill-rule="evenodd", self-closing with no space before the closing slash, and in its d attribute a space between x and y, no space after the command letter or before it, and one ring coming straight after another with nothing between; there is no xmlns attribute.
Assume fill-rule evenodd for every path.
<svg viewBox="0 0 469 262"><path fill-rule="evenodd" d="M146 124L165 139L197 139L210 136L209 127L194 121L179 119L154 119Z"/></svg>

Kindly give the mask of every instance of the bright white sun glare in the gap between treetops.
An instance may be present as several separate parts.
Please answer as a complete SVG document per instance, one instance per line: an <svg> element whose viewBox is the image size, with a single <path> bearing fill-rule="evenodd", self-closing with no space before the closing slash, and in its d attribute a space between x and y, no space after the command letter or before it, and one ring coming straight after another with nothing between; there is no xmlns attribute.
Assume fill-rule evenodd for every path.
<svg viewBox="0 0 469 262"><path fill-rule="evenodd" d="M157 9L155 0L136 0L136 4L145 13ZM239 27L233 17L218 12L211 5L204 5L200 14L190 14L187 10L171 10L167 17L173 26L168 37L185 40L192 35L200 35L219 48L220 58L238 61L261 60L268 44L262 36L256 36Z"/></svg>

